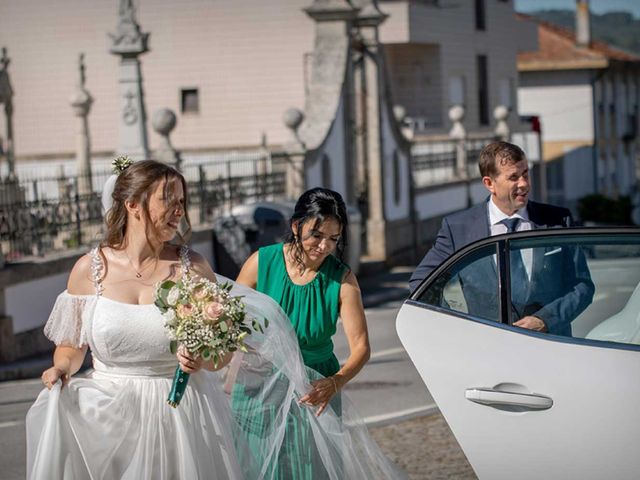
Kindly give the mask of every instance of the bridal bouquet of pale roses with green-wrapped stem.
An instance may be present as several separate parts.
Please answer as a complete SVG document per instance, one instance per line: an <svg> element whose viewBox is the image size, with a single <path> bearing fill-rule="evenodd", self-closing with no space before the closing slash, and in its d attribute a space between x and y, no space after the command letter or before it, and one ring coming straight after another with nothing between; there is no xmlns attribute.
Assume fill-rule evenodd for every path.
<svg viewBox="0 0 640 480"><path fill-rule="evenodd" d="M192 355L218 365L227 352L247 351L244 338L263 332L256 319L248 317L241 297L232 296L230 283L185 276L156 287L154 303L162 312L171 353L183 345ZM265 319L264 328L268 326ZM167 402L177 407L189 381L189 374L176 369Z"/></svg>

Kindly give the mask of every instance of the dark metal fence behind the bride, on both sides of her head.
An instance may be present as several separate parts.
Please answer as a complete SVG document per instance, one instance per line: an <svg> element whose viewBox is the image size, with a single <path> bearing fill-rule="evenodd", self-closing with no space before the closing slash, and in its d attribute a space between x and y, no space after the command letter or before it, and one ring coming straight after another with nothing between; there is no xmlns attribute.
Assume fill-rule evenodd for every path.
<svg viewBox="0 0 640 480"><path fill-rule="evenodd" d="M6 261L91 245L102 237L101 192L109 170L86 178L36 175L0 182L0 248ZM183 166L194 226L211 223L240 204L285 196L286 157L268 152L251 159Z"/></svg>

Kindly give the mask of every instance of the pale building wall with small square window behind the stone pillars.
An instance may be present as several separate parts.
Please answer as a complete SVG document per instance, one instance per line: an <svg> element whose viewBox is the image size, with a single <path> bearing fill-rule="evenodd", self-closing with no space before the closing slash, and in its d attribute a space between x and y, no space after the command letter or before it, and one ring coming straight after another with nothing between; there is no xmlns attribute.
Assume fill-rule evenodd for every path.
<svg viewBox="0 0 640 480"><path fill-rule="evenodd" d="M71 153L76 119L69 97L77 58L86 54L87 89L95 98L92 148L116 148L118 57L109 53L117 0L0 0L0 45L8 48L15 90L18 156ZM150 32L142 55L149 118L161 107L178 114L179 149L271 144L288 140L282 114L304 104L304 55L313 50L309 0L137 0ZM180 88L197 87L200 113L180 114ZM1 120L0 120L1 121ZM158 135L148 125L151 147Z"/></svg>

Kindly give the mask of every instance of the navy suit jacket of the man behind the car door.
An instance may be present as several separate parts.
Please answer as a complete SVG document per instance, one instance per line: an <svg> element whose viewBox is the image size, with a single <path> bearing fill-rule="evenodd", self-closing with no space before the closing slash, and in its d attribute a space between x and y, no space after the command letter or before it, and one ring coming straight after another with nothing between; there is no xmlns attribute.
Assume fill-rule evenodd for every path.
<svg viewBox="0 0 640 480"><path fill-rule="evenodd" d="M411 291L455 251L491 236L487 202L446 216L435 244L422 259L410 279ZM527 212L534 228L571 226L566 208L528 202ZM492 256L474 262L458 272L468 313L482 318L499 318L496 266ZM533 249L531 282L526 301L514 304L514 315L535 315L550 333L571 335L571 321L590 303L594 292L591 275L581 249Z"/></svg>

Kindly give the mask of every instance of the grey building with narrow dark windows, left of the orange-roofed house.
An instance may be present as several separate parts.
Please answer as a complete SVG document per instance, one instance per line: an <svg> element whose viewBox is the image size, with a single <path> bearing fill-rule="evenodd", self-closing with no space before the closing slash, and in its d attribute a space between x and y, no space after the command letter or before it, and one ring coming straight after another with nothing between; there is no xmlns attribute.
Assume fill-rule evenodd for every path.
<svg viewBox="0 0 640 480"><path fill-rule="evenodd" d="M470 132L490 132L498 105L517 112L518 22L513 2L381 1L381 25L394 104L419 134L448 131L449 107L465 108ZM511 115L512 128L519 125Z"/></svg>

